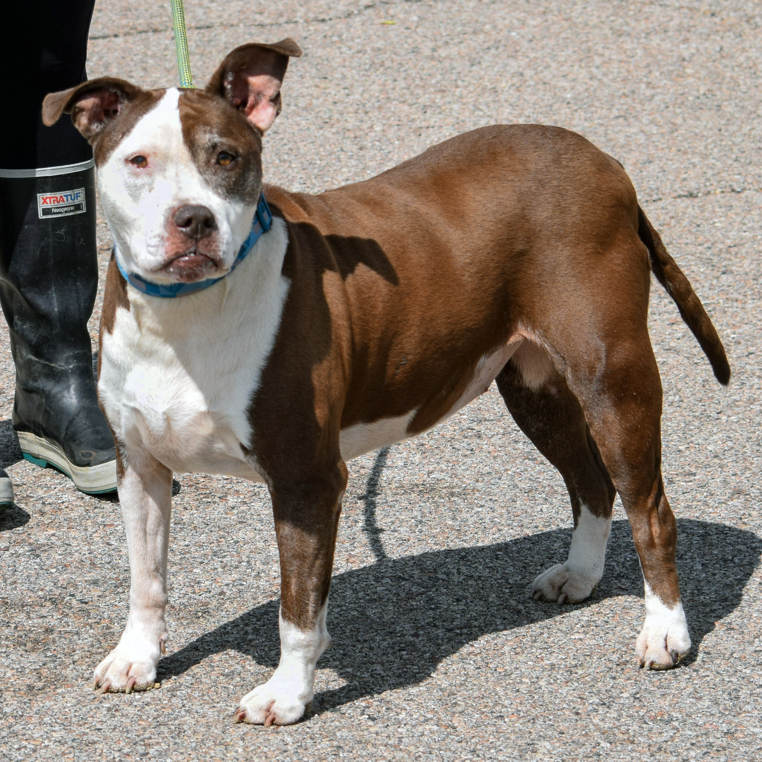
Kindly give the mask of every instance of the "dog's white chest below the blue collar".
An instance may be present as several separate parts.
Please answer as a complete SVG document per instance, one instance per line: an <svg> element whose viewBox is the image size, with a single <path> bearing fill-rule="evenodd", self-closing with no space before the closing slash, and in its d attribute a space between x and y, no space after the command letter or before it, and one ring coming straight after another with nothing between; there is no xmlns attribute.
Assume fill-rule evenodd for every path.
<svg viewBox="0 0 762 762"><path fill-rule="evenodd" d="M98 389L117 437L174 472L261 480L248 408L273 347L288 281L274 220L232 277L178 299L130 293L105 334Z"/></svg>

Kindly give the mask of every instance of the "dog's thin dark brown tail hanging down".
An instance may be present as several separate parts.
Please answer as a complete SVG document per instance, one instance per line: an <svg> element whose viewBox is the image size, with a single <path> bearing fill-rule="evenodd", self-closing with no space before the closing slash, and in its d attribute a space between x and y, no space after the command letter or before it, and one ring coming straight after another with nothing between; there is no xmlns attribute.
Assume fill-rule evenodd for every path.
<svg viewBox="0 0 762 762"><path fill-rule="evenodd" d="M688 328L696 337L701 348L709 358L716 379L719 383L727 386L730 381L730 364L725 354L725 347L719 340L709 315L706 314L701 299L690 285L690 281L677 263L669 255L667 247L656 232L654 226L648 222L643 210L638 207L638 235L640 240L648 248L651 259L651 269L656 280L661 283L672 297L680 317L684 319Z"/></svg>

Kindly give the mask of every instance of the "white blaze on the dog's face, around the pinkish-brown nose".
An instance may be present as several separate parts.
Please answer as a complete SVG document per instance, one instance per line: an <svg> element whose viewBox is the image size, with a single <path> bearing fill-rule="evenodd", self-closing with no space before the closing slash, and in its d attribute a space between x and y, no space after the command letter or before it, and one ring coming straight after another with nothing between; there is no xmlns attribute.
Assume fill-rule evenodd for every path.
<svg viewBox="0 0 762 762"><path fill-rule="evenodd" d="M200 205L214 214L212 246L222 262L216 277L229 271L256 210L256 204L223 197L203 179L183 139L179 98L176 88L168 90L98 168L117 258L126 271L154 283L173 282L160 268L178 254L171 219L180 207ZM146 158L145 168L130 162L136 156Z"/></svg>

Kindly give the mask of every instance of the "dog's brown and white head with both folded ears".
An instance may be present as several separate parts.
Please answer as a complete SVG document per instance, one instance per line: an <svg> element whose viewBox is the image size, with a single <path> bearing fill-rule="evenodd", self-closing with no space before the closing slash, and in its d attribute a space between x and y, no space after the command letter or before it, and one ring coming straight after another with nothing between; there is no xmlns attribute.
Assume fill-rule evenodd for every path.
<svg viewBox="0 0 762 762"><path fill-rule="evenodd" d="M236 48L204 90L142 90L101 77L43 101L91 143L120 262L155 283L226 274L261 189L262 135L280 114L293 40Z"/></svg>

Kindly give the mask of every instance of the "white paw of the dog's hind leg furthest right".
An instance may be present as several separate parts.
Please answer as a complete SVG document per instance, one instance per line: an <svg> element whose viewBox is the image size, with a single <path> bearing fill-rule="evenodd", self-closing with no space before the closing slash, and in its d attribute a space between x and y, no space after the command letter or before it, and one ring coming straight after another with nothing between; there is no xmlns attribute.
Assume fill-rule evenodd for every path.
<svg viewBox="0 0 762 762"><path fill-rule="evenodd" d="M645 590L645 624L635 642L638 664L647 669L671 669L690 651L683 604L665 606Z"/></svg>

